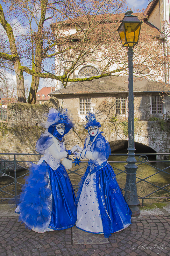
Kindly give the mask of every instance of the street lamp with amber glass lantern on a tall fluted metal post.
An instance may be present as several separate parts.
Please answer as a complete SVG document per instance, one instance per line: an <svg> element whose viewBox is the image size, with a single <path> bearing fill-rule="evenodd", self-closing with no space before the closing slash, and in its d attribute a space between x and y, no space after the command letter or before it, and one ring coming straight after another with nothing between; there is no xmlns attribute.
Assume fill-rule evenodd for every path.
<svg viewBox="0 0 170 256"><path fill-rule="evenodd" d="M117 31L123 47L128 48L128 68L129 68L129 103L128 103L128 158L126 169L126 185L124 198L129 205L132 216L138 216L140 210L138 208L139 200L136 188L136 171L138 166L135 164L135 141L134 141L134 96L133 96L133 47L138 44L140 28L142 21L137 16L132 15L132 11L125 12L122 23Z"/></svg>

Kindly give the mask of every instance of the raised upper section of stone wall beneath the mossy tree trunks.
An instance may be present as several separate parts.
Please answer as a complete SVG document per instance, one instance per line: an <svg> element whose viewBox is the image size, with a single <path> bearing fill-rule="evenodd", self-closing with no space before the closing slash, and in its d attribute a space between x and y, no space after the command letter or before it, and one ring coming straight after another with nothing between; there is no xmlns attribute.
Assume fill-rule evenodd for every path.
<svg viewBox="0 0 170 256"><path fill-rule="evenodd" d="M55 97L52 97L43 105L10 103L8 104L8 126L37 126L39 123L46 121L44 114L48 113L51 108L59 108L59 102Z"/></svg>

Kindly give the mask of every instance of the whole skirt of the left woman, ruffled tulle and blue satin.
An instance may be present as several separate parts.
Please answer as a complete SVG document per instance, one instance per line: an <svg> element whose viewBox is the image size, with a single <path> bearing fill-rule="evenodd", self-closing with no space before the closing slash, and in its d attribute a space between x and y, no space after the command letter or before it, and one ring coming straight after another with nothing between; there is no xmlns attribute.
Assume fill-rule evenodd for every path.
<svg viewBox="0 0 170 256"><path fill-rule="evenodd" d="M36 232L71 228L77 220L75 194L62 164L53 170L46 162L32 164L15 210L19 221Z"/></svg>

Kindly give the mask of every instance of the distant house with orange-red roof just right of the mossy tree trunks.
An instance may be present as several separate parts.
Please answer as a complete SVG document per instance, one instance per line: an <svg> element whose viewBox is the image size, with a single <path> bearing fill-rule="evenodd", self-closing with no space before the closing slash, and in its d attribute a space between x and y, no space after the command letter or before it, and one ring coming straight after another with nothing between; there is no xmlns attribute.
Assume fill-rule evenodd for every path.
<svg viewBox="0 0 170 256"><path fill-rule="evenodd" d="M36 103L35 104L44 104L47 100L50 100L51 96L48 95L50 92L55 90L54 87L43 87L36 94Z"/></svg>

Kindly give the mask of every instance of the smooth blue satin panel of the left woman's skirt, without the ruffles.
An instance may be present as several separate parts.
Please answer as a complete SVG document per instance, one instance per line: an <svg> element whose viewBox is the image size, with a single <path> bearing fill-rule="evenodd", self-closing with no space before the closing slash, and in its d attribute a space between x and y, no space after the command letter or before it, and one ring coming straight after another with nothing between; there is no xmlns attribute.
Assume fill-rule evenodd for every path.
<svg viewBox="0 0 170 256"><path fill-rule="evenodd" d="M49 228L71 228L77 220L77 204L71 181L62 164L55 171L48 164L47 168L53 198Z"/></svg>

